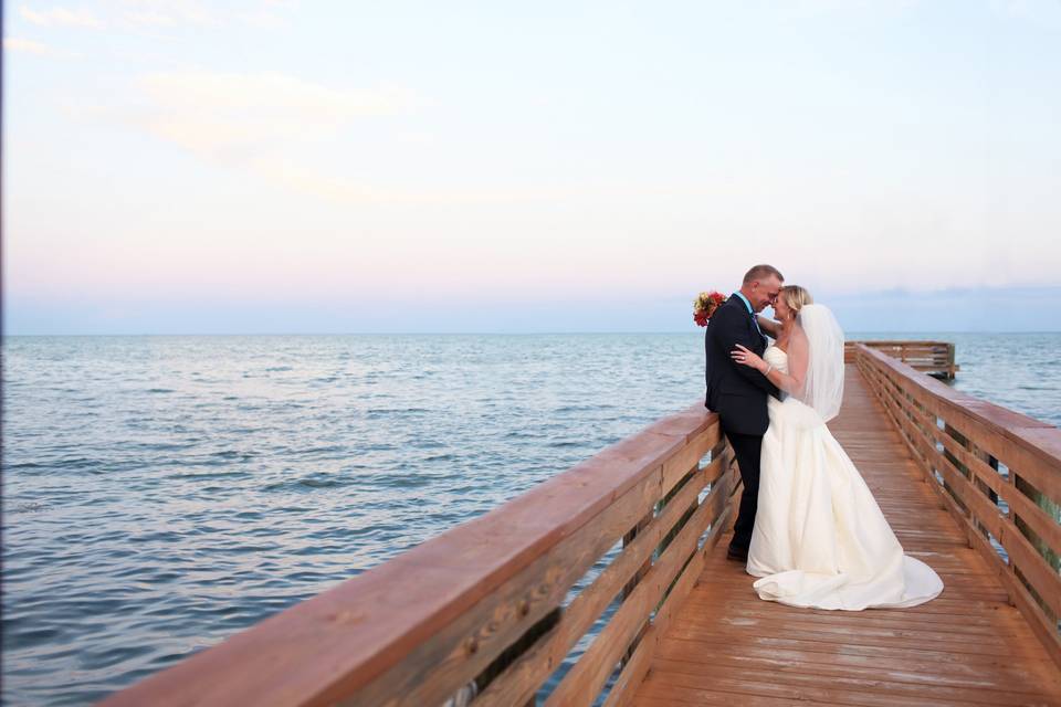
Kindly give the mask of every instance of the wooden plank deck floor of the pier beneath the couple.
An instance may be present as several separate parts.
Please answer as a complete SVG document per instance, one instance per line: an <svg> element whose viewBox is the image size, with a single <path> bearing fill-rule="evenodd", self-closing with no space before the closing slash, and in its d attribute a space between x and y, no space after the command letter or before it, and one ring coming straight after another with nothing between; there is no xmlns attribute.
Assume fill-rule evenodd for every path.
<svg viewBox="0 0 1061 707"><path fill-rule="evenodd" d="M849 365L830 423L907 553L943 578L912 609L830 612L758 599L723 538L661 636L633 705L1061 705L1061 675Z"/></svg>

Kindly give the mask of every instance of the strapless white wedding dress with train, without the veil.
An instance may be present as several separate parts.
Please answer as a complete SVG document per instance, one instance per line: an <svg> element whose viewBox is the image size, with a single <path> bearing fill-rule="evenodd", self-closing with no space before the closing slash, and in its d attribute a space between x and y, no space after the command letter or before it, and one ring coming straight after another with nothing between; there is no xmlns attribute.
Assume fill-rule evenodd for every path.
<svg viewBox="0 0 1061 707"><path fill-rule="evenodd" d="M776 346L763 357L787 373ZM821 415L795 397L770 398L758 511L747 571L761 599L859 611L914 606L943 582L907 557L859 471Z"/></svg>

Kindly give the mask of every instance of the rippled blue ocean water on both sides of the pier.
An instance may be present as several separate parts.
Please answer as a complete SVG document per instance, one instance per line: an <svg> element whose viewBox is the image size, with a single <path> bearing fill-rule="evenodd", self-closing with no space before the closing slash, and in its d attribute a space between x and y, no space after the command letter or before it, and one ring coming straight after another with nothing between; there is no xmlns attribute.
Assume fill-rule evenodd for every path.
<svg viewBox="0 0 1061 707"><path fill-rule="evenodd" d="M1061 424L1061 334L852 338ZM8 338L2 700L93 703L702 395L696 333Z"/></svg>

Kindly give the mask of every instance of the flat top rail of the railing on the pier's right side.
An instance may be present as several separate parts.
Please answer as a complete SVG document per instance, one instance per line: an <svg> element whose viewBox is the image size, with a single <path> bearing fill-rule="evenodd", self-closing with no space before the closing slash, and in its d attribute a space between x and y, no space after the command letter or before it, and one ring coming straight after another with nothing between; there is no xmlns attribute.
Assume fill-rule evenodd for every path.
<svg viewBox="0 0 1061 707"><path fill-rule="evenodd" d="M1043 462L1055 464L1061 472L1061 429L957 391L873 347L859 342L857 348L878 365L901 376L908 386L953 407L977 424L1012 440Z"/></svg>

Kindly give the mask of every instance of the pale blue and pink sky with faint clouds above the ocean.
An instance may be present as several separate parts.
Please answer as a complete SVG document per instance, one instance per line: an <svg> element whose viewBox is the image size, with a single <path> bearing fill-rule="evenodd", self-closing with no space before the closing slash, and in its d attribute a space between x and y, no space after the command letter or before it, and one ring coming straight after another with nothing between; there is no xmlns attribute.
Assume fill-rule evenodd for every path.
<svg viewBox="0 0 1061 707"><path fill-rule="evenodd" d="M4 3L7 334L1061 330L1061 0Z"/></svg>

